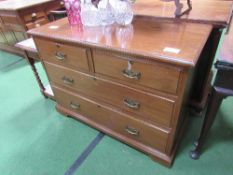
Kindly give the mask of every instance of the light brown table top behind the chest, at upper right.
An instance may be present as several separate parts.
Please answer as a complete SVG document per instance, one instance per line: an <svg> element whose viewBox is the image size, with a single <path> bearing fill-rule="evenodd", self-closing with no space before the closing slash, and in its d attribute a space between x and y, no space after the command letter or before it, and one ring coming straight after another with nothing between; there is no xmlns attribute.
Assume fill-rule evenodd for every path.
<svg viewBox="0 0 233 175"><path fill-rule="evenodd" d="M184 9L186 9L186 1L181 0L181 2L185 5ZM232 1L192 0L193 9L189 14L183 15L180 20L226 26L230 20L232 6ZM137 0L134 4L134 13L137 15L174 20L174 12L175 5L173 1Z"/></svg>

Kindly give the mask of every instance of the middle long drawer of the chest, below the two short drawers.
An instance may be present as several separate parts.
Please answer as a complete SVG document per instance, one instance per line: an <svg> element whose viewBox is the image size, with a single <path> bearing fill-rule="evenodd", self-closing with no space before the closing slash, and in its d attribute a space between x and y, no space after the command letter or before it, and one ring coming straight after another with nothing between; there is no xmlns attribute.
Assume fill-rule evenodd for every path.
<svg viewBox="0 0 233 175"><path fill-rule="evenodd" d="M170 126L174 101L48 63L45 67L50 80L55 83L104 99L155 124Z"/></svg>

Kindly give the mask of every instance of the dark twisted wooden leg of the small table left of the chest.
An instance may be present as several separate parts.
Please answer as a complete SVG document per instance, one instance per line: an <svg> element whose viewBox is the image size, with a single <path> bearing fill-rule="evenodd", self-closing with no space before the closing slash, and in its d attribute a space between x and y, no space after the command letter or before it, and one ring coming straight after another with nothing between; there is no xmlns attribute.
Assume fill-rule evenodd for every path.
<svg viewBox="0 0 233 175"><path fill-rule="evenodd" d="M48 98L47 95L45 94L45 87L44 87L44 85L43 85L43 83L42 83L42 81L41 81L41 79L40 79L40 77L39 77L39 74L38 74L38 72L37 72L37 69L36 69L36 67L35 67L35 61L34 61L34 59L33 59L33 58L30 58L30 57L28 56L27 52L25 52L25 58L27 59L29 65L31 66L31 69L32 69L32 71L33 71L33 73L34 73L34 75L35 75L35 77L36 77L36 81L37 81L37 83L38 83L38 85L39 85L39 87L40 87L41 93L43 94L43 96L44 96L45 98Z"/></svg>

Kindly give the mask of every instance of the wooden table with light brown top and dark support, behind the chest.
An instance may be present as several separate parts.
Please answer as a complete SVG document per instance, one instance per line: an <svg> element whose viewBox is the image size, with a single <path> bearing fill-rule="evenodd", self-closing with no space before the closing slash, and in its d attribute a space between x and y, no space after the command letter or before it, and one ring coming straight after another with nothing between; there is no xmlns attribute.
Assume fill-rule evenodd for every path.
<svg viewBox="0 0 233 175"><path fill-rule="evenodd" d="M185 2L185 1L184 1ZM185 3L184 3L185 4ZM181 18L175 18L174 2L160 0L137 0L134 13L139 16L152 17L159 20L186 21L211 24L213 30L196 66L195 83L190 97L190 106L201 112L206 106L211 82L211 68L218 48L223 28L227 27L232 14L232 1L203 0L192 1L193 9Z"/></svg>

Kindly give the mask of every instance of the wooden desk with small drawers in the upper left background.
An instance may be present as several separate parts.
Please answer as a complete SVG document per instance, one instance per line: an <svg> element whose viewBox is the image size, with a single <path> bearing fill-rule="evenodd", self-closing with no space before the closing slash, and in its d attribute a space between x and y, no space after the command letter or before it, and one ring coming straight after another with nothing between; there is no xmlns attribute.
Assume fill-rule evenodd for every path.
<svg viewBox="0 0 233 175"><path fill-rule="evenodd" d="M0 1L0 49L23 55L14 45L25 40L26 31L49 22L51 10L60 9L60 0Z"/></svg>

